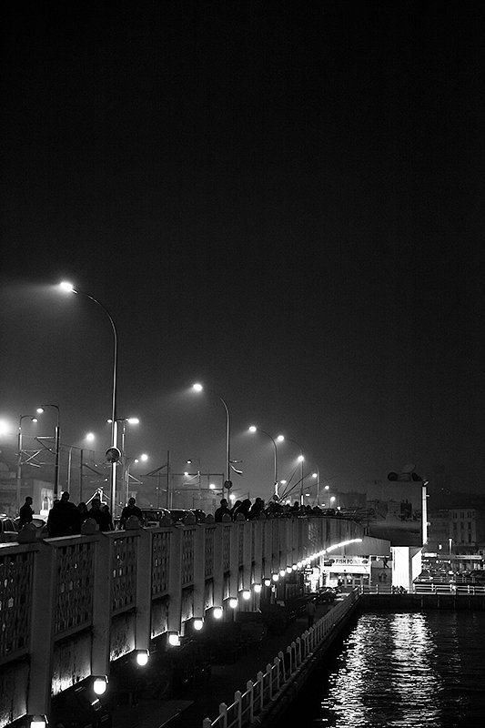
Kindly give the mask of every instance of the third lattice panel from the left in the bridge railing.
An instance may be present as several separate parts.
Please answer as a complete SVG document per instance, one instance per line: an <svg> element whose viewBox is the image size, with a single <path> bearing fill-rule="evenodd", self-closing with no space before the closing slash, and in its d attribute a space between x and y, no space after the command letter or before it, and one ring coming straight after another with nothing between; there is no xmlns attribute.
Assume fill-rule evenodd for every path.
<svg viewBox="0 0 485 728"><path fill-rule="evenodd" d="M111 612L136 604L136 536L111 541Z"/></svg>

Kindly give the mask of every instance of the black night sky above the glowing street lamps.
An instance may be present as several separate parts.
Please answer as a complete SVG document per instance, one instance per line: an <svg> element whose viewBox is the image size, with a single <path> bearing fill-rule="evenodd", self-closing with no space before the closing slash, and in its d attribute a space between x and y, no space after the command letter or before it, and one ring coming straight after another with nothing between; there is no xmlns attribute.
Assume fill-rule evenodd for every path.
<svg viewBox="0 0 485 728"><path fill-rule="evenodd" d="M272 445L362 490L480 492L485 23L467 2L11 4L0 417L271 493ZM201 381L212 392L188 391ZM43 434L54 426L45 415ZM44 424L45 423L45 424ZM45 430L45 431L44 431ZM40 431L40 430L39 430ZM295 444L280 450L288 478ZM147 468L145 469L147 470Z"/></svg>

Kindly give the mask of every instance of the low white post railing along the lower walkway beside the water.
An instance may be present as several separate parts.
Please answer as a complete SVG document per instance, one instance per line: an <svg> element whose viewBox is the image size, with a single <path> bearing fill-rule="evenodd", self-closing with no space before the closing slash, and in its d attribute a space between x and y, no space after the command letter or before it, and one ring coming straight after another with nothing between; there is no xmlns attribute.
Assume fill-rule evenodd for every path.
<svg viewBox="0 0 485 728"><path fill-rule="evenodd" d="M255 716L278 700L302 664L318 649L358 599L359 589L356 589L342 602L335 604L313 627L291 642L286 652L278 652L273 663L268 662L266 672L258 672L256 682L249 680L244 693L237 690L233 703L220 703L217 718L214 721L205 718L202 728L242 728L253 723Z"/></svg>

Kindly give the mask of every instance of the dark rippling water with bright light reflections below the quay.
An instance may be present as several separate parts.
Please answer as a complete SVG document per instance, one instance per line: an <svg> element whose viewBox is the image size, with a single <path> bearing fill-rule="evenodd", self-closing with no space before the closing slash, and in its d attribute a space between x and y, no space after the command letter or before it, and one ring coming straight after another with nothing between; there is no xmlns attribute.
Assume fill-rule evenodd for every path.
<svg viewBox="0 0 485 728"><path fill-rule="evenodd" d="M364 614L288 719L300 728L485 725L484 652L485 612Z"/></svg>

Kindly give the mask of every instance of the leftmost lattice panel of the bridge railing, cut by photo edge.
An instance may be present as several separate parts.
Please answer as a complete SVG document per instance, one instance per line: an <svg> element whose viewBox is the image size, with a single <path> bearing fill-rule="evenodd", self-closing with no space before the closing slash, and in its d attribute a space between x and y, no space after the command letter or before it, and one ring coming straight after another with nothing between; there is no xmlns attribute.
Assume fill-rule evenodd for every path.
<svg viewBox="0 0 485 728"><path fill-rule="evenodd" d="M0 657L29 643L33 566L33 553L0 556Z"/></svg>

